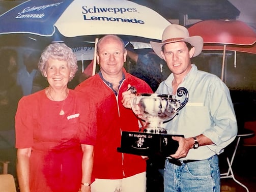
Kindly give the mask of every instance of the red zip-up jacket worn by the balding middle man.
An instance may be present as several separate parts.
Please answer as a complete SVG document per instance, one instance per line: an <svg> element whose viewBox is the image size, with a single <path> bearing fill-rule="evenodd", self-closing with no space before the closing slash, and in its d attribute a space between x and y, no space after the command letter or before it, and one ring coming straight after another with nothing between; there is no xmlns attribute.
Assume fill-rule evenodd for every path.
<svg viewBox="0 0 256 192"><path fill-rule="evenodd" d="M92 93L91 104L95 106L90 113L92 127L97 129L94 146L93 177L98 179L123 179L146 171L146 161L139 155L121 153L122 131L138 131L138 118L131 109L122 104L122 92L128 85L135 86L137 92L152 93L150 86L141 79L125 72L125 80L121 83L118 95L101 80L99 73L81 82L75 90L83 94Z"/></svg>

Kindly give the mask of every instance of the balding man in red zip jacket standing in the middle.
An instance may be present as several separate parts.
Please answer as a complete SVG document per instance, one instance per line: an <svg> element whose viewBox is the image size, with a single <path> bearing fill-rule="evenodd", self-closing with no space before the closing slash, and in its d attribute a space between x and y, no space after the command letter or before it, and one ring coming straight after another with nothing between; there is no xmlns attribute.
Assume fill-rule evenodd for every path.
<svg viewBox="0 0 256 192"><path fill-rule="evenodd" d="M75 90L94 94L97 138L94 146L93 192L146 191L146 160L121 153L122 131L138 131L138 118L122 105L122 92L135 86L138 92L152 92L150 86L124 70L126 50L115 35L101 38L97 44L98 74L80 83Z"/></svg>

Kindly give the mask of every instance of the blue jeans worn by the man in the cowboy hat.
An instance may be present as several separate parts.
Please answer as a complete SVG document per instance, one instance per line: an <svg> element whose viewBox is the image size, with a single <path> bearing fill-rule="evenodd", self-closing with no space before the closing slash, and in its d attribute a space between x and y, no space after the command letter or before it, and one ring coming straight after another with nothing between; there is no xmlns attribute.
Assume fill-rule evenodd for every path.
<svg viewBox="0 0 256 192"><path fill-rule="evenodd" d="M220 173L218 156L206 160L182 163L181 166L165 161L164 192L219 192Z"/></svg>

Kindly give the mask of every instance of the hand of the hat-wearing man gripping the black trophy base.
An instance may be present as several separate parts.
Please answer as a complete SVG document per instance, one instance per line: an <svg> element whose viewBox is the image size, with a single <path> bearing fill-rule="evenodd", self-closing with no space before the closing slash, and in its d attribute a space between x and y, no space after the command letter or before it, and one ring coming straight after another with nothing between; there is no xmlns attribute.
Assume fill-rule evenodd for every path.
<svg viewBox="0 0 256 192"><path fill-rule="evenodd" d="M186 157L188 154L189 149L191 149L191 140L190 138L183 138L183 137L172 137L173 140L179 142L179 147L175 154L170 155L172 158L182 158Z"/></svg>

